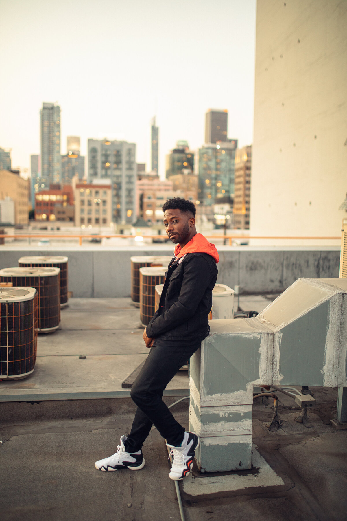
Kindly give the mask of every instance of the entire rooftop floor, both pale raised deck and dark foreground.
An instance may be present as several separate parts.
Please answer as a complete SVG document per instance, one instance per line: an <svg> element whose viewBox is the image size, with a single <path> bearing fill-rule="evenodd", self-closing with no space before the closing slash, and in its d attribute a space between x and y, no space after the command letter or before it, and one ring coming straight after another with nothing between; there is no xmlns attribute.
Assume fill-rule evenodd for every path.
<svg viewBox="0 0 347 521"><path fill-rule="evenodd" d="M260 312L274 296L240 296L240 307ZM0 382L1 519L179 521L168 454L156 429L144 445L143 470L101 473L94 467L131 428L135 407L121 383L148 353L138 309L126 298L70 299L61 325L40 334L30 377ZM203 475L195 469L179 483L187 521L346 519L347 431L330 425L337 390L312 390L317 407L310 410L309 428L295 423L300 408L280 394L283 423L268 431L273 401L255 400L253 468ZM166 391L167 403L187 395L187 372ZM188 400L173 412L187 428Z"/></svg>

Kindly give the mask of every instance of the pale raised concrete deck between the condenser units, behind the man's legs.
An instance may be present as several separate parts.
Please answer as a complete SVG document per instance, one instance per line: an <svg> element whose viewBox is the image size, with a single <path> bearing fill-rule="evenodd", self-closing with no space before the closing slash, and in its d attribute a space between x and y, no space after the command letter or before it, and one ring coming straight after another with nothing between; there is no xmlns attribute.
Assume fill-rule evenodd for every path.
<svg viewBox="0 0 347 521"><path fill-rule="evenodd" d="M139 310L128 298L70 299L61 329L38 336L34 372L0 381L0 402L130 396L122 382L149 352L138 325ZM177 373L165 394L189 394L187 371Z"/></svg>

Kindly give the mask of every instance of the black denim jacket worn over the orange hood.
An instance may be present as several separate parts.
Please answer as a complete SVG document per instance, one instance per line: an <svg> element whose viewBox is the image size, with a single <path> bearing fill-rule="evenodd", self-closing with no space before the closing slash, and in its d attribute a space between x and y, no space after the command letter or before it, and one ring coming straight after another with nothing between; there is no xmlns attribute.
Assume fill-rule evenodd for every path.
<svg viewBox="0 0 347 521"><path fill-rule="evenodd" d="M217 272L214 258L207 253L187 253L179 264L173 258L147 336L154 337L156 344L198 343L207 337Z"/></svg>

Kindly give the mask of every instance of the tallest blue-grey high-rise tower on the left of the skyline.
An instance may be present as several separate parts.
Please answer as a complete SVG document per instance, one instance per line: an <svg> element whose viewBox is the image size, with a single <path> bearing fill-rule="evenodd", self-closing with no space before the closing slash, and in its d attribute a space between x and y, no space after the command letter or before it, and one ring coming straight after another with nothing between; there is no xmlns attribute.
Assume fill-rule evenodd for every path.
<svg viewBox="0 0 347 521"><path fill-rule="evenodd" d="M48 184L60 183L60 107L43 103L41 115L41 177Z"/></svg>

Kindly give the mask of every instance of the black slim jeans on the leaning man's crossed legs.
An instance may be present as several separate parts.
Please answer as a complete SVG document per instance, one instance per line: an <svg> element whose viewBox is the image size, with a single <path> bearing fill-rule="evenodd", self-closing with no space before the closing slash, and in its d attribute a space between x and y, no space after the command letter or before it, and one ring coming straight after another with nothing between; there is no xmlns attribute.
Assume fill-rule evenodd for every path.
<svg viewBox="0 0 347 521"><path fill-rule="evenodd" d="M137 411L130 435L124 443L126 452L140 450L152 425L170 445L181 445L184 427L175 420L162 401L162 395L178 369L187 363L199 347L200 343L189 346L177 344L176 347L157 345L150 349L130 392Z"/></svg>

